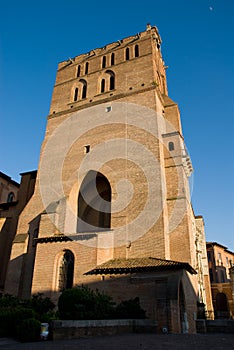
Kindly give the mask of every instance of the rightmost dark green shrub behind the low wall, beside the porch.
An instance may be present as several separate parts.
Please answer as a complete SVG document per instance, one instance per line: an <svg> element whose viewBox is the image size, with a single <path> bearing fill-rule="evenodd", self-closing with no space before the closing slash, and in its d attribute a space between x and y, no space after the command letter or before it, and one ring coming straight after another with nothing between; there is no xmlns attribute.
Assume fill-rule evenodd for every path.
<svg viewBox="0 0 234 350"><path fill-rule="evenodd" d="M116 307L116 318L145 318L145 311L140 306L139 298L122 301Z"/></svg>

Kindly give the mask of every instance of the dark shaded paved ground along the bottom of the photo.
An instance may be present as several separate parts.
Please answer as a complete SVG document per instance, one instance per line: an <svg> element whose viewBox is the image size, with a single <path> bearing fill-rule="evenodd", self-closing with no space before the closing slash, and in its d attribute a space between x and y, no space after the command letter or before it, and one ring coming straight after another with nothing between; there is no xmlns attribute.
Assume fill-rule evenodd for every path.
<svg viewBox="0 0 234 350"><path fill-rule="evenodd" d="M124 334L75 340L18 343L0 338L0 350L233 350L234 334Z"/></svg>

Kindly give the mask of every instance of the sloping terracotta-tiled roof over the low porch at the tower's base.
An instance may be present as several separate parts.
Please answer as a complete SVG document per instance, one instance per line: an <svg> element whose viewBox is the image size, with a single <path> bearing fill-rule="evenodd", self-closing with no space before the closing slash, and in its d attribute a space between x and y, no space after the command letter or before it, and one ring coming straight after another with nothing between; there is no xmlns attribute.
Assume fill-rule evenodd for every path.
<svg viewBox="0 0 234 350"><path fill-rule="evenodd" d="M86 272L85 275L128 274L134 272L180 269L185 269L191 274L196 274L196 271L188 263L146 257L108 260L105 263L96 266L93 270Z"/></svg>

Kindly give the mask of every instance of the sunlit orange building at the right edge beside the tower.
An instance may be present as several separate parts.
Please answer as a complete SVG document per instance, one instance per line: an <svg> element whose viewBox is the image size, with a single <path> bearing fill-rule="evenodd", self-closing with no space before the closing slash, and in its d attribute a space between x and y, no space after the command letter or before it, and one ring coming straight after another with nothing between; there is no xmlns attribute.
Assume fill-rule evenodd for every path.
<svg viewBox="0 0 234 350"><path fill-rule="evenodd" d="M217 242L206 249L215 318L234 318L234 253Z"/></svg>

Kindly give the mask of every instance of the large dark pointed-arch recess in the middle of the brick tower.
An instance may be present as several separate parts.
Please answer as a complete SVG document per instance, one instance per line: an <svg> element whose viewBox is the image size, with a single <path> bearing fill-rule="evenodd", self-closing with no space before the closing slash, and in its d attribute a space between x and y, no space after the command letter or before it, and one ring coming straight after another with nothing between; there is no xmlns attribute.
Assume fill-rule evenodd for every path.
<svg viewBox="0 0 234 350"><path fill-rule="evenodd" d="M89 171L78 196L77 232L95 232L110 228L111 187L99 172Z"/></svg>

